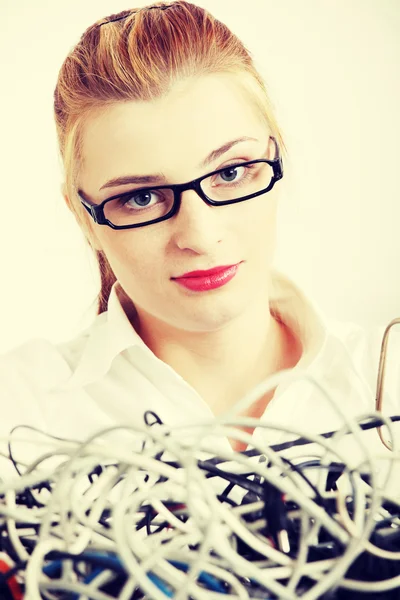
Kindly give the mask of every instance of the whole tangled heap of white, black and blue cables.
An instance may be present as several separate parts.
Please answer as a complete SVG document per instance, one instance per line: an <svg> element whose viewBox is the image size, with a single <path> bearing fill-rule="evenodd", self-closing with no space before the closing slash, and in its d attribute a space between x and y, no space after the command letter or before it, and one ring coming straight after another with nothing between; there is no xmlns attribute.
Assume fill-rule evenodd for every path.
<svg viewBox="0 0 400 600"><path fill-rule="evenodd" d="M393 432L390 419L288 431L279 446L238 428L271 424L235 414L192 428L156 420L84 443L41 436L42 455L0 486L1 598L396 597L400 505L363 437L382 423ZM340 450L345 436L363 457L356 466ZM213 456L210 440L226 438L251 448ZM390 441L386 480L399 458Z"/></svg>

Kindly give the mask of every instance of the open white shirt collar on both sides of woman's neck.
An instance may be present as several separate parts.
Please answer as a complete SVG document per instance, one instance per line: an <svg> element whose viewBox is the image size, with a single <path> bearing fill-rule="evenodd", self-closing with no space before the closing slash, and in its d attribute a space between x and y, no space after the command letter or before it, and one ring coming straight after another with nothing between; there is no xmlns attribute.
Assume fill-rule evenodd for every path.
<svg viewBox="0 0 400 600"><path fill-rule="evenodd" d="M283 321L301 340L303 354L298 367L305 368L326 342L327 325L323 314L289 277L274 270L271 276L270 311ZM116 282L110 293L107 311L98 315L87 331L81 358L67 381L67 386L82 386L105 375L111 364L124 350L134 346L152 354L127 313L134 315L134 306Z"/></svg>

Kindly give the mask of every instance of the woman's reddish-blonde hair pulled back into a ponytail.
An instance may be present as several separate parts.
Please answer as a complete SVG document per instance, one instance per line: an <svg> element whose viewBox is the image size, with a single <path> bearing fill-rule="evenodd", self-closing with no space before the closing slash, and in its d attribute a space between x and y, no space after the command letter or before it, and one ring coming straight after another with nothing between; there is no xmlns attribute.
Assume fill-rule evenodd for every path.
<svg viewBox="0 0 400 600"><path fill-rule="evenodd" d="M178 80L213 73L246 79L281 150L284 143L264 82L250 53L229 28L185 0L126 10L91 25L65 59L54 91L54 114L63 160L64 194L94 248L89 215L77 196L85 119L116 102L152 100ZM116 277L96 250L101 276L98 313L107 309Z"/></svg>

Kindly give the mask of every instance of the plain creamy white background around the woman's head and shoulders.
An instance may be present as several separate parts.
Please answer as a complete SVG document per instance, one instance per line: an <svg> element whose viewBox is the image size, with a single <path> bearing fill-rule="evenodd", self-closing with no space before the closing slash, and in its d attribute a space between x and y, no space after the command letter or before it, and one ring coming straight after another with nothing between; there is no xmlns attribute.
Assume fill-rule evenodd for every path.
<svg viewBox="0 0 400 600"><path fill-rule="evenodd" d="M400 0L198 4L255 56L286 138L277 267L331 317L400 316ZM132 5L0 7L2 352L68 339L92 318L97 275L61 196L52 94L84 29Z"/></svg>

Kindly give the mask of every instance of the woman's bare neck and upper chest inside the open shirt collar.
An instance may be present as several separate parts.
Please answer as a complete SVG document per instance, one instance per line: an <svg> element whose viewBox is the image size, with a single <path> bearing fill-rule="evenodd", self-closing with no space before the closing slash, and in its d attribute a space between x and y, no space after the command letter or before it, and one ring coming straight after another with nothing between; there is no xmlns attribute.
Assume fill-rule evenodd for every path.
<svg viewBox="0 0 400 600"><path fill-rule="evenodd" d="M217 331L177 330L143 315L139 321L143 341L204 398L214 414L284 368L285 327L270 314L265 296ZM264 398L263 408L267 401Z"/></svg>

